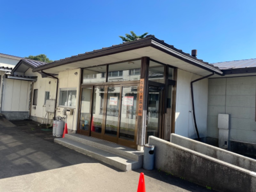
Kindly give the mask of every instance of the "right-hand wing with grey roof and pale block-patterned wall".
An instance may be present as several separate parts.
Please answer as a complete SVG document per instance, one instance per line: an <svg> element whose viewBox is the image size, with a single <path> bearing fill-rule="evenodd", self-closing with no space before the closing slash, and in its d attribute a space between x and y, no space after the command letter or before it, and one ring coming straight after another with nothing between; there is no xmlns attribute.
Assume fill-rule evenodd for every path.
<svg viewBox="0 0 256 192"><path fill-rule="evenodd" d="M218 146L223 135L218 115L229 115L230 151L256 157L256 59L213 63L224 76L209 78L207 142ZM224 141L225 142L225 141ZM220 143L220 147L225 143Z"/></svg>

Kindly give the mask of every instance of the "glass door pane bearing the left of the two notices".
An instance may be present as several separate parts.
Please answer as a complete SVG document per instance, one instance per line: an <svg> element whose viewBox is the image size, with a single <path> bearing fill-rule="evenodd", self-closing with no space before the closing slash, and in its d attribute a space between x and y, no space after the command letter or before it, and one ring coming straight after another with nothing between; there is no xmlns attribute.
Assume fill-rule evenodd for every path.
<svg viewBox="0 0 256 192"><path fill-rule="evenodd" d="M116 136L118 127L120 87L108 87L105 134Z"/></svg>

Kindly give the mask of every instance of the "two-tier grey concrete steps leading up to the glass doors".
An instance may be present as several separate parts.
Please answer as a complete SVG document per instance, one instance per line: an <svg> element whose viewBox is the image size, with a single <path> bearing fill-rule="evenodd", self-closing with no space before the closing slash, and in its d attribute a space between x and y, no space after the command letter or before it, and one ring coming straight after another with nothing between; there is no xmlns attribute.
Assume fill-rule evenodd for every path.
<svg viewBox="0 0 256 192"><path fill-rule="evenodd" d="M141 151L84 135L65 134L65 138L56 138L54 142L122 171L138 169L143 164L143 152Z"/></svg>

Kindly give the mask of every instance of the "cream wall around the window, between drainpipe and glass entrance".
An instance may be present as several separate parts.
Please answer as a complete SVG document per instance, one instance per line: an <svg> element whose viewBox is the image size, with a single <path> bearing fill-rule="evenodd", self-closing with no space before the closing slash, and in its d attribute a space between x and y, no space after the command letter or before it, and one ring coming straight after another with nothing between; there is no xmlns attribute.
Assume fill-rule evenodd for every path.
<svg viewBox="0 0 256 192"><path fill-rule="evenodd" d="M77 75L75 75L76 72L77 72ZM72 108L72 109L74 109L74 114L67 116L67 127L69 130L76 130L76 128L77 128L80 82L81 82L81 69L80 68L68 70L68 71L62 71L59 73L59 90L58 90L56 116L63 116L61 114L62 110L64 108L71 108L71 107L59 106L60 89L61 88L76 88L76 107Z"/></svg>

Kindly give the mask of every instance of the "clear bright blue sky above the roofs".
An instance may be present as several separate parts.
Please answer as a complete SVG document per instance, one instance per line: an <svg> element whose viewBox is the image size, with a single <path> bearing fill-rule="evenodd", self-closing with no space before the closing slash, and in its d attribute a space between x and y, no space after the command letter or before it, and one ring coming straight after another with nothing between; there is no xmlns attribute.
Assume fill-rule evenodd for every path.
<svg viewBox="0 0 256 192"><path fill-rule="evenodd" d="M59 60L148 32L214 63L256 58L255 0L0 1L0 53Z"/></svg>

